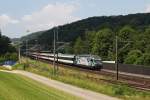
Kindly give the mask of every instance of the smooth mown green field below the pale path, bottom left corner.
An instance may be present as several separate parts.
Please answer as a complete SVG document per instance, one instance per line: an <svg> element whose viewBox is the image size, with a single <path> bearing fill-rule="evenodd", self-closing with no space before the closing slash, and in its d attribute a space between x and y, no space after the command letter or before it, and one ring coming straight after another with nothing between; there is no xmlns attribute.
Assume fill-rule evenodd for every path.
<svg viewBox="0 0 150 100"><path fill-rule="evenodd" d="M0 71L0 100L79 100L24 76Z"/></svg>

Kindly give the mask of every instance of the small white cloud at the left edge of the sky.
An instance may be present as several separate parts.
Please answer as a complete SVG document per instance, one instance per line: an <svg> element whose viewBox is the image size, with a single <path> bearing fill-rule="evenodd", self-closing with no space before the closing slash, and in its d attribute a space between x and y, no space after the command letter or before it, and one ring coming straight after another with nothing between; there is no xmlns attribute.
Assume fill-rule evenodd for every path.
<svg viewBox="0 0 150 100"><path fill-rule="evenodd" d="M19 21L12 19L10 16L6 14L2 14L0 16L0 27L5 27L8 24L16 24L16 23L19 23Z"/></svg>

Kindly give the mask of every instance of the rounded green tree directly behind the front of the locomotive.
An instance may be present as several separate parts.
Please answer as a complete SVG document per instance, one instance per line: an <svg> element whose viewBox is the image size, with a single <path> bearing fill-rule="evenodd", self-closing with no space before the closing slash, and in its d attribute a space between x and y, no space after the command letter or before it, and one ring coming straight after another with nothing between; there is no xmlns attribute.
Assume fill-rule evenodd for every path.
<svg viewBox="0 0 150 100"><path fill-rule="evenodd" d="M102 59L108 58L108 52L113 51L114 34L110 29L98 31L93 40L92 52Z"/></svg>

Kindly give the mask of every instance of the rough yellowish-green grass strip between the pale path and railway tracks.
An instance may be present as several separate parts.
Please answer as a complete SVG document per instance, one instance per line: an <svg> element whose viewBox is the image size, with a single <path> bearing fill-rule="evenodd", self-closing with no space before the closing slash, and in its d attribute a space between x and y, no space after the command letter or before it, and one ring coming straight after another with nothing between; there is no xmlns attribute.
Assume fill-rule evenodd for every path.
<svg viewBox="0 0 150 100"><path fill-rule="evenodd" d="M96 75L88 72L82 72L76 68L59 67L57 75L53 73L53 67L50 64L35 61L31 59L22 59L22 64L17 64L14 68L23 69L58 80L67 84L72 84L81 88L86 88L99 93L118 97L125 100L150 100L149 91L140 91L135 88L130 88L128 85L111 84L101 79L109 79L111 77ZM92 77L97 77L93 79Z"/></svg>

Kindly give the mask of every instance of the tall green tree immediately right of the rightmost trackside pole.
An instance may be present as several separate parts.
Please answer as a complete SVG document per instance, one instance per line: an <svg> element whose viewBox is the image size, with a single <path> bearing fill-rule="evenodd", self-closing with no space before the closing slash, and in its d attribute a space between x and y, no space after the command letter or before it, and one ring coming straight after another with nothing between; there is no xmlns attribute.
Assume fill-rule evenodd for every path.
<svg viewBox="0 0 150 100"><path fill-rule="evenodd" d="M118 60L123 63L127 58L128 52L132 50L136 31L130 26L124 26L118 32Z"/></svg>

